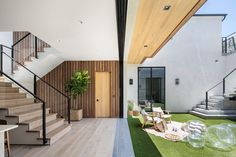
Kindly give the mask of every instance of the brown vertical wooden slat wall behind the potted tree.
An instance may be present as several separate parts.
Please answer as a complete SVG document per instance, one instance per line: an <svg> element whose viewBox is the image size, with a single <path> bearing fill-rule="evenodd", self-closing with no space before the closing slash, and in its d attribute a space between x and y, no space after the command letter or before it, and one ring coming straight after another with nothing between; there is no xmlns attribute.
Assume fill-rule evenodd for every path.
<svg viewBox="0 0 236 157"><path fill-rule="evenodd" d="M65 93L65 83L70 79L72 74L77 70L88 70L91 77L91 83L87 92L72 100L73 108L83 108L84 117L95 117L95 72L111 73L111 117L119 117L119 62L118 61L66 61L57 68L49 72L43 79L52 84L57 89ZM66 99L53 92L38 81L38 95L48 102L48 107L52 112L60 113L63 116L67 114Z"/></svg>

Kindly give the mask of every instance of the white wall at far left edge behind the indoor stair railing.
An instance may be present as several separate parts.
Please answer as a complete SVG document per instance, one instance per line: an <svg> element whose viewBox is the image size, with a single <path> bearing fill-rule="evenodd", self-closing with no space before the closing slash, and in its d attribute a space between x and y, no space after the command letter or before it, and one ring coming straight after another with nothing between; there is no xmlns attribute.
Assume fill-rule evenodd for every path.
<svg viewBox="0 0 236 157"><path fill-rule="evenodd" d="M11 47L13 45L13 32L0 32L0 44ZM11 50L3 48L3 51L11 55ZM7 74L11 72L11 60L3 55L3 71Z"/></svg>

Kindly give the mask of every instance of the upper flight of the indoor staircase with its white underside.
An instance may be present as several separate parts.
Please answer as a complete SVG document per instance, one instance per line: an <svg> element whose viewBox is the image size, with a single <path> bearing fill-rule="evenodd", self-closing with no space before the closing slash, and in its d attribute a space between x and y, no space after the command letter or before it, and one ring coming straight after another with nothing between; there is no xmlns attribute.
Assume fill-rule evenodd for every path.
<svg viewBox="0 0 236 157"><path fill-rule="evenodd" d="M13 39L15 43L12 46L14 59L40 77L64 61L59 57L60 52L29 32L14 32ZM14 79L22 80L26 78L23 76L27 75L30 76L23 67L13 64L12 76Z"/></svg>

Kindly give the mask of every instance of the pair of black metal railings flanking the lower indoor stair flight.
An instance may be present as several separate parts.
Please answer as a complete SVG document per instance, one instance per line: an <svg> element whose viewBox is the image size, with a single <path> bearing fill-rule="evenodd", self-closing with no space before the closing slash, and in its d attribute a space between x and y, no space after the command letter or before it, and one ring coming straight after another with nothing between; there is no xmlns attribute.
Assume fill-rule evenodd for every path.
<svg viewBox="0 0 236 157"><path fill-rule="evenodd" d="M54 91L56 91L57 93L59 93L61 96L65 97L67 99L67 116L68 116L68 123L70 124L70 109L71 109L71 98L69 96L67 96L66 94L64 94L63 92L61 92L60 90L58 90L57 88L55 88L54 86L52 86L50 83L46 82L45 80L43 80L41 77L39 77L37 74L35 74L34 72L32 72L30 69L28 69L27 67L25 67L22 63L19 63L17 60L15 60L14 58L12 58L10 55L8 55L7 53L4 52L3 48L6 49L10 49L12 50L12 48L7 47L5 45L0 45L0 74L1 75L5 75L8 79L10 79L11 81L13 81L14 83L16 83L18 86L20 86L22 89L24 89L27 93L29 93L30 95L32 95L35 100L39 100L40 102L43 103L43 122L42 122L42 127L43 127L43 143L46 144L47 140L46 140L46 103L45 100L42 100L42 98L40 98L39 96L37 96L37 80L42 81L46 86L50 87L51 89L53 89ZM4 56L8 57L12 62L16 63L17 65L23 67L26 71L28 71L29 73L31 73L34 77L33 77L33 82L34 82L34 92L31 92L29 89L27 89L26 87L24 87L22 84L20 84L19 82L17 82L16 80L14 80L11 76L9 76L8 74L6 74L4 72L4 64L3 64L3 58Z"/></svg>

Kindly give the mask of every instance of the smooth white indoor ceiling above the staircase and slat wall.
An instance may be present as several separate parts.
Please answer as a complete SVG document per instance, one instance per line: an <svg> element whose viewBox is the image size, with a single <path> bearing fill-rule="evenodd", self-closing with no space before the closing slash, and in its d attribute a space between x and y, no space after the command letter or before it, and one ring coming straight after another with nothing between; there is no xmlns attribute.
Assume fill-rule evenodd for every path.
<svg viewBox="0 0 236 157"><path fill-rule="evenodd" d="M118 60L115 0L0 0L0 31L29 31L68 60Z"/></svg>

